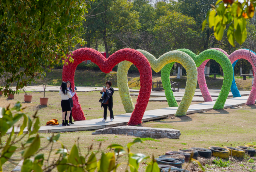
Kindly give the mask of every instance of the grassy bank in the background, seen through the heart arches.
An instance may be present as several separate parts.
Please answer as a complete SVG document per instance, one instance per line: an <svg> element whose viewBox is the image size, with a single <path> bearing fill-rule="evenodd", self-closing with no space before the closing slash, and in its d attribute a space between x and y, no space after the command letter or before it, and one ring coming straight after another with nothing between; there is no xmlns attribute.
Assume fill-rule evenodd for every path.
<svg viewBox="0 0 256 172"><path fill-rule="evenodd" d="M46 73L46 76L51 79L49 85L61 85L62 82L62 69L53 69L51 72ZM128 74L128 85L130 88L139 89L140 79L139 74ZM237 87L239 90L251 90L252 89L252 78L246 77L243 80L240 76L235 76ZM90 70L76 70L75 71L75 85L76 86L93 86L102 87L105 85L107 80L112 81L112 86L117 87L117 72L110 72L108 74L101 71L90 71ZM154 82L161 81L160 74L154 74L152 76ZM170 76L170 80L174 82L180 82L180 88L185 88L187 77L182 76L181 79L177 79L177 76ZM216 75L216 80L213 80L213 75L205 77L208 88L221 88L223 84L223 76ZM197 84L197 88L199 88Z"/></svg>

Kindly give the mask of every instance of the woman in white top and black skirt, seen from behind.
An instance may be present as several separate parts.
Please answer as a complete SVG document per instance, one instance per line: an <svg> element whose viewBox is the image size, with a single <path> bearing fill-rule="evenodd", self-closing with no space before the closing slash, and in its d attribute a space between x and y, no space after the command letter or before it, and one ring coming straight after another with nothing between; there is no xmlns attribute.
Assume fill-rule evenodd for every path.
<svg viewBox="0 0 256 172"><path fill-rule="evenodd" d="M62 108L62 126L69 125L68 119L71 111L70 101L69 98L72 98L71 93L67 89L67 83L62 82L59 95L61 97L61 108ZM65 119L65 114L67 112L67 117Z"/></svg>

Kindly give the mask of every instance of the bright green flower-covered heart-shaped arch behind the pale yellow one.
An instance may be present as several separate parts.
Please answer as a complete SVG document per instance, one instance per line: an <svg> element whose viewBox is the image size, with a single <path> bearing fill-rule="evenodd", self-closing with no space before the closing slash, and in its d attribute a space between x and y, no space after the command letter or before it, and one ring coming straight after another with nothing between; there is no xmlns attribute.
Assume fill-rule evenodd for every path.
<svg viewBox="0 0 256 172"><path fill-rule="evenodd" d="M213 108L214 109L223 109L224 104L227 100L228 93L231 88L232 79L233 79L233 68L232 68L232 64L231 64L230 60L228 59L228 57L223 52L220 52L218 50L213 50L213 49L205 50L205 51L201 52L199 55L196 55L195 53L193 53L192 51L190 51L188 49L178 49L177 51L182 51L182 52L187 53L191 58L194 59L197 67L199 67L207 59L214 59L217 63L219 63L221 65L221 67L223 68L224 80L223 80L221 92L219 93L219 96L218 96L217 101L215 102ZM167 64L161 70L161 79L162 79L162 81L165 81L165 82L162 82L163 88L167 88L167 89L165 89L166 96L169 94L172 94L172 90L170 89L171 84L170 84L170 78L169 78L172 65L173 64ZM198 80L199 79L200 78L198 78ZM167 101L168 101L169 106L171 104L173 104L173 102L171 102L169 99L167 99Z"/></svg>

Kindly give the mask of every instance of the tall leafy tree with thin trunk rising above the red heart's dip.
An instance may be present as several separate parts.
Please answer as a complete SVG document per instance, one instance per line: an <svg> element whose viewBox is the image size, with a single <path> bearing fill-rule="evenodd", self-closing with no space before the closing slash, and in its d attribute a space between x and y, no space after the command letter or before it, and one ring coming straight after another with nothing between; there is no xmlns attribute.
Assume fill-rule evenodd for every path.
<svg viewBox="0 0 256 172"><path fill-rule="evenodd" d="M126 0L104 0L90 4L91 10L86 18L88 34L96 33L102 39L106 57L109 57L108 42L113 36L125 30L134 30L140 26L139 15L132 10L132 3Z"/></svg>

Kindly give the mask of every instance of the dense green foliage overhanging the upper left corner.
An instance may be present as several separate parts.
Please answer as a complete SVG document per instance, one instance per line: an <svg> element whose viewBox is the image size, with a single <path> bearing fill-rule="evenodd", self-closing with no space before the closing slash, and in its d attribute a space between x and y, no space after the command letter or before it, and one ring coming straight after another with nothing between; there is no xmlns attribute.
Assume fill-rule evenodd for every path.
<svg viewBox="0 0 256 172"><path fill-rule="evenodd" d="M80 39L85 0L2 0L0 2L0 78L5 96L44 76L66 58ZM14 92L14 91L12 91Z"/></svg>

